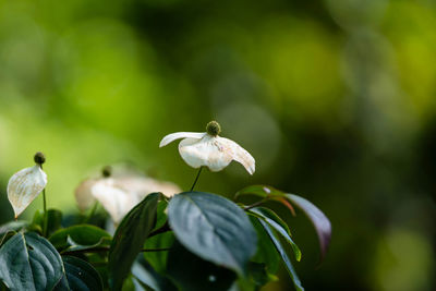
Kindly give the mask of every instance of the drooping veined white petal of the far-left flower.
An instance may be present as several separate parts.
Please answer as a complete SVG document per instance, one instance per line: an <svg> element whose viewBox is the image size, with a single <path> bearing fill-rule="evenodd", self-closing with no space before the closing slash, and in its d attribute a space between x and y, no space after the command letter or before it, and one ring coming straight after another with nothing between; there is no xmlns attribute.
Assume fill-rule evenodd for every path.
<svg viewBox="0 0 436 291"><path fill-rule="evenodd" d="M15 218L38 196L47 185L47 174L39 166L23 169L13 174L8 183L8 199Z"/></svg>

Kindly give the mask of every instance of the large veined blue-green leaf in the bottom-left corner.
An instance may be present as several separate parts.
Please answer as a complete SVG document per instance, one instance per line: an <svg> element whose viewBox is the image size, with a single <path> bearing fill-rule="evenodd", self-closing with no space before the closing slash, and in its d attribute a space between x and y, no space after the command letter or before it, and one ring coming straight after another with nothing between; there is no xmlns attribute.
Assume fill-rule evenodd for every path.
<svg viewBox="0 0 436 291"><path fill-rule="evenodd" d="M0 279L10 290L52 290L63 274L59 253L36 233L17 233L0 248Z"/></svg>

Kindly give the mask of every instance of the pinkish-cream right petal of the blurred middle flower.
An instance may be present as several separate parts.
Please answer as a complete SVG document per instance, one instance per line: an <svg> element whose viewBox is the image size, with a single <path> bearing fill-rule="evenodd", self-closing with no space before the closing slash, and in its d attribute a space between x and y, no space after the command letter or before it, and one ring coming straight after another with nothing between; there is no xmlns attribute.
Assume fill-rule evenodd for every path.
<svg viewBox="0 0 436 291"><path fill-rule="evenodd" d="M170 182L162 182L146 177L122 177L117 179L117 185L126 190L128 192L136 193L141 199L154 192L161 192L167 197L171 197L182 190Z"/></svg>

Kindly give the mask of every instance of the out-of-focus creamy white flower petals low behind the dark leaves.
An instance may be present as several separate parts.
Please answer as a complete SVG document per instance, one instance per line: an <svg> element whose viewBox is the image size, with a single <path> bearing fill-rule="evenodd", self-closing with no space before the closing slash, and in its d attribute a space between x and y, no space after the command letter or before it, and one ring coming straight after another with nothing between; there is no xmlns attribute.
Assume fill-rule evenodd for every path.
<svg viewBox="0 0 436 291"><path fill-rule="evenodd" d="M81 210L98 201L118 225L136 204L154 192L171 197L182 191L170 182L143 175L121 175L85 180L77 186L75 198Z"/></svg>

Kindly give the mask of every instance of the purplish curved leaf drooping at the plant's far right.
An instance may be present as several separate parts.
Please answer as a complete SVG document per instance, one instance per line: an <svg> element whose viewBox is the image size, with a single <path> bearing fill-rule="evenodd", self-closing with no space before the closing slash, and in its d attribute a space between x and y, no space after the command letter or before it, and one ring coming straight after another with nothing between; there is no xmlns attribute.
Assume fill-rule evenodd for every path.
<svg viewBox="0 0 436 291"><path fill-rule="evenodd" d="M319 246L320 246L320 260L324 259L327 253L328 245L331 239L331 223L330 220L325 216L325 214L319 210L310 201L300 197L294 194L286 194L286 197L299 207L311 220L312 225L316 230L318 235Z"/></svg>

